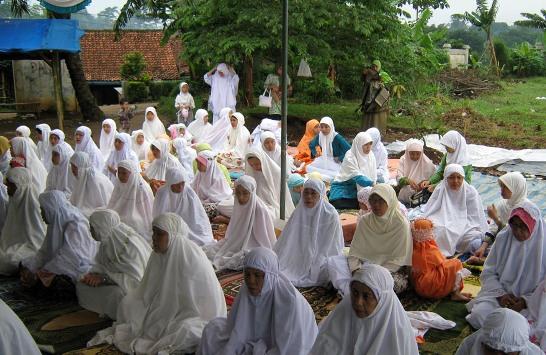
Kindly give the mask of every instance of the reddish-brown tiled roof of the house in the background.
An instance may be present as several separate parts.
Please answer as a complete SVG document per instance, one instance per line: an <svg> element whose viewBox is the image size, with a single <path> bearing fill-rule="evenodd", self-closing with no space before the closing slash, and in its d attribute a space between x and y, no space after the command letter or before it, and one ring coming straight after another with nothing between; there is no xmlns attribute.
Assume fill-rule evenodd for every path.
<svg viewBox="0 0 546 355"><path fill-rule="evenodd" d="M171 39L161 46L162 31L123 31L114 41L113 31L86 31L81 39L81 58L85 78L92 81L118 81L123 57L129 52L140 52L146 60L146 72L153 80L175 80L189 68L180 59L182 43Z"/></svg>

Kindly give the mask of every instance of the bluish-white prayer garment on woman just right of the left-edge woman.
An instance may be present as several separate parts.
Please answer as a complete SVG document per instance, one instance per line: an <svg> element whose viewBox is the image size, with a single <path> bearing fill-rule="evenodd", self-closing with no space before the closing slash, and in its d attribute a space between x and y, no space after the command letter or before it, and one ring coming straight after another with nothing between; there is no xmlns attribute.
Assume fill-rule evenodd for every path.
<svg viewBox="0 0 546 355"><path fill-rule="evenodd" d="M89 232L89 222L60 191L44 192L39 200L47 233L38 253L23 260L23 266L33 273L45 270L66 275L76 282L89 271L98 249Z"/></svg>

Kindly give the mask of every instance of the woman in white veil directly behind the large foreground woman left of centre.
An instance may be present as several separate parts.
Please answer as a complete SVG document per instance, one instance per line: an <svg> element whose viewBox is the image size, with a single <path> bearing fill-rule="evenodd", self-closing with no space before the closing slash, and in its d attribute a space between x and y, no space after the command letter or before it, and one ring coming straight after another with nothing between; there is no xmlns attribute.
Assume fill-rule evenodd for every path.
<svg viewBox="0 0 546 355"><path fill-rule="evenodd" d="M197 245L215 243L207 213L199 197L189 184L184 170L167 169L166 184L157 191L154 200L153 216L176 213L188 225L188 238Z"/></svg>

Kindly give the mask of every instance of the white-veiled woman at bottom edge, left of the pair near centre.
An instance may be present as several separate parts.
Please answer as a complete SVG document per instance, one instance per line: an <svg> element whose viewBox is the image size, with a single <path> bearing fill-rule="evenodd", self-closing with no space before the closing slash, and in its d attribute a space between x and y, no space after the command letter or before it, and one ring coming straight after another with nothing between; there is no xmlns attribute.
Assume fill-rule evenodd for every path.
<svg viewBox="0 0 546 355"><path fill-rule="evenodd" d="M205 327L197 354L307 355L318 333L315 315L279 270L275 253L252 249L244 270L245 283L228 318Z"/></svg>

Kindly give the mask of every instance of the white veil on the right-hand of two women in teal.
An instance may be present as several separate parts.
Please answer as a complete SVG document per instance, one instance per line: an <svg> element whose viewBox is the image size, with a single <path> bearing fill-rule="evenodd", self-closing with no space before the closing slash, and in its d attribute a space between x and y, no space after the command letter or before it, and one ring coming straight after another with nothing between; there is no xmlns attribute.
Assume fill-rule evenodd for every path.
<svg viewBox="0 0 546 355"><path fill-rule="evenodd" d="M366 132L360 132L353 139L351 149L345 154L341 163L341 170L334 181L343 182L356 176L363 175L374 183L377 180L377 169L375 166L375 156L370 150L364 154L362 147L372 142L372 137Z"/></svg>

